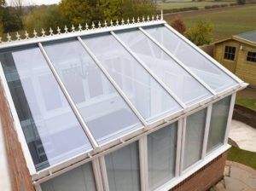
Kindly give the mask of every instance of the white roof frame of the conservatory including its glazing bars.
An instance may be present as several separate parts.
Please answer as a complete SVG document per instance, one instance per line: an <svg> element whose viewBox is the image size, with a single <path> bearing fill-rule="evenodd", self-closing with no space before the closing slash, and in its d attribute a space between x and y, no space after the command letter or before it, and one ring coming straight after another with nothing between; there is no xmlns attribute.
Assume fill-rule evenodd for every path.
<svg viewBox="0 0 256 191"><path fill-rule="evenodd" d="M46 52L44 51L44 48L42 46L41 43L44 42L49 42L49 41L54 41L54 40L58 40L58 39L64 39L64 38L78 38L79 42L83 44L83 46L85 45L82 41L82 39L80 37L82 36L86 36L86 35L91 35L91 34L96 34L96 33L102 33L102 32L110 32L114 38L117 39L116 35L114 34L114 31L119 31L119 30L125 30L125 29L130 29L130 28L139 28L144 34L146 34L152 41L154 41L154 38L150 37L147 32L144 32L144 30L142 29L143 26L156 26L156 25L165 25L168 28L170 28L170 30L173 30L170 26L168 26L166 24L165 20L152 20L152 21L146 21L146 22L139 22L139 23L134 23L134 24L125 24L123 26L109 26L109 27L102 27L102 28L98 28L98 29L92 29L90 31L82 31L82 32L70 32L67 34L62 34L62 35L54 35L51 37L44 37L44 38L32 38L32 39L28 39L25 41L20 41L20 42L10 42L10 43L3 43L0 44L0 50L1 49L9 49L9 48L13 48L16 46L24 46L24 45L29 45L29 44L38 44L39 48L41 49L41 51L43 52L44 57L46 57L46 60L48 61L49 67L51 68L51 70L55 73L55 78L59 78L57 73L55 72L55 68L53 66L51 66L51 62L49 61L49 58L46 54ZM172 31L174 33L177 33L176 31ZM178 34L177 34L178 35ZM180 38L182 38L184 41L188 41L187 39L183 38L181 35L179 35ZM119 43L121 43L119 41ZM157 43L157 42L156 42ZM188 42L189 43L189 42ZM190 43L189 43L190 44ZM122 45L124 46L124 43L122 43ZM157 44L160 45L160 44ZM191 44L190 44L191 45ZM195 48L195 45L192 44L192 46ZM127 49L127 46L124 46L125 49ZM162 46L160 46L161 49L163 49L164 51L166 51L166 53L168 55L171 55L169 53L168 50L164 49ZM85 45L84 49L89 50L88 47ZM208 55L206 53L204 53L202 50L195 48L196 50L198 50L199 52L201 52L202 55L206 56L207 59L209 59L210 61L212 61L215 65L217 65L218 67L219 64L214 61L212 58L208 58ZM133 55L134 57L137 58L136 55L132 54L132 52L130 51L130 49L127 49L128 52ZM90 54L90 56L95 57L93 54ZM48 58L48 59L47 59ZM173 59L176 60L175 57L172 56ZM96 60L96 57L94 58L94 60L97 62L96 64L102 69L102 65L99 61ZM159 84L163 84L161 82L161 80L159 78L156 78L154 73L151 72L148 67L144 66L143 62L140 61L139 59L137 60L139 62L139 64L141 64L147 71L148 73L159 83ZM177 61L177 60L176 60ZM220 93L216 93L214 90L212 90L210 87L207 86L207 84L205 84L204 82L201 81L200 78L197 78L195 76L195 74L193 74L193 72L189 71L189 69L187 67L183 66L183 63L180 63L179 61L177 61L187 72L189 72L193 77L195 77L201 84L203 84L204 87L207 88L207 90L211 91L212 94L214 96L205 99L204 101L200 101L199 103L196 103L190 107L184 107L184 104L182 103L182 101L179 101L178 103L181 103L181 105L183 105L183 110L181 111L177 111L177 113L172 113L169 115L164 116L161 119L157 119L154 122L148 124L142 117L142 115L140 113L137 112L136 107L134 107L132 105L132 103L127 100L128 98L125 97L125 94L122 93L122 90L119 90L119 86L117 84L115 84L115 82L113 81L113 79L110 77L110 75L108 74L107 71L104 71L104 74L107 76L107 78L111 81L111 83L114 85L114 87L119 90L119 94L123 97L123 99L126 101L126 103L128 103L128 105L133 108L132 111L137 115L137 117L142 121L143 123L143 127L138 129L138 130L133 130L125 135L120 136L119 138L116 138L110 142L106 142L104 145L102 145L101 147L97 145L96 140L94 139L93 136L91 136L90 134L90 130L88 129L88 127L86 126L86 124L84 123L84 120L82 119L81 116L79 116L79 112L77 111L76 106L74 106L74 103L72 101L72 98L68 95L68 93L66 92L66 88L64 86L64 84L60 84L61 86L63 86L63 91L66 92L67 94L65 94L65 96L67 96L67 99L69 100L68 102L73 105L73 110L75 112L75 114L77 115L77 117L81 120L79 120L80 123L84 124L83 125L83 129L84 132L86 133L86 135L88 136L88 138L90 139L90 142L92 143L93 148L96 148L95 150L90 151L89 153L81 153L77 156L74 156L72 159L67 159L65 161L62 161L59 164L56 165L52 165L49 166L48 168L42 170L42 171L36 171L35 167L32 163L32 156L28 150L27 144L26 144L26 139L25 136L23 134L21 125L20 125L20 121L17 115L17 112L15 110L15 105L14 102L12 100L12 96L10 95L10 91L9 91L9 86L7 84L7 80L5 78L5 75L3 73L3 67L1 65L0 67L0 78L2 79L2 83L3 83L3 88L6 92L6 96L7 96L7 100L9 101L9 106L11 109L11 112L14 115L15 118L15 128L17 130L19 139L20 139L20 143L21 143L21 147L23 150L23 153L25 155L26 158L26 165L28 166L28 169L32 175L32 180L35 181L35 184L38 184L39 182L44 182L45 180L48 180L51 177L55 177L57 176L59 173L62 173L63 171L69 171L70 169L73 169L75 166L79 166L82 165L92 159L96 159L98 157L103 156L106 153L110 153L113 152L113 150L116 150L118 148L124 147L125 145L137 141L140 137L148 135L149 133L155 131L155 130L159 130L160 128L166 126L166 124L171 124L172 122L183 118L184 116L187 116L191 113L195 113L196 111L201 110L203 107L209 106L212 104L212 102L218 101L221 98L223 98L224 96L229 96L231 94L234 94L236 91L244 89L247 84L243 83L239 78L239 80L236 78L236 76L234 77L234 75L230 74L230 72L227 71L227 69L220 67L223 71L225 71L227 74L229 74L231 76L231 78L236 78L237 82L239 84L236 84L234 87L230 87L230 89L228 90L224 90ZM104 69L104 68L103 68ZM58 83L59 81L61 82L61 79L57 80ZM166 85L162 85L162 87L171 95L171 96L175 96L174 94L172 94L172 91L169 90ZM185 110L184 110L185 109ZM90 137L91 136L91 137ZM180 135L181 136L181 135ZM99 149L97 149L99 148ZM178 153L181 154L181 153ZM100 159L101 160L101 159ZM180 174L180 171L177 172L178 174Z"/></svg>

